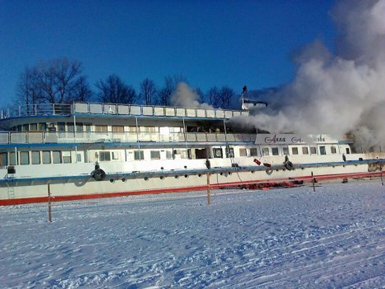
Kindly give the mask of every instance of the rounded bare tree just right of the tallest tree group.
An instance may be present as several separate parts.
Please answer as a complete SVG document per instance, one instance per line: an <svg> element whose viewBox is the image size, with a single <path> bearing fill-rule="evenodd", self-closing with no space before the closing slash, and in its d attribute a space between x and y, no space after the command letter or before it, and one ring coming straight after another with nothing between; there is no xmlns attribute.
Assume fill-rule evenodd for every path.
<svg viewBox="0 0 385 289"><path fill-rule="evenodd" d="M101 102L132 103L136 98L132 86L125 84L115 74L108 76L106 80L99 80L96 87L99 89L97 95Z"/></svg>

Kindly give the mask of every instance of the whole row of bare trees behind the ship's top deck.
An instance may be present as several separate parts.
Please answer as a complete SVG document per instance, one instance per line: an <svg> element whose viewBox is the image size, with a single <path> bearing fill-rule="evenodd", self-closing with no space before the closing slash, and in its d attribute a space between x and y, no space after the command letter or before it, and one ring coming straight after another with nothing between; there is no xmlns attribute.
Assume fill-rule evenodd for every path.
<svg viewBox="0 0 385 289"><path fill-rule="evenodd" d="M179 82L187 82L182 75L164 77L158 87L152 79L139 83L139 91L125 83L118 75L111 74L100 79L91 88L84 67L77 60L67 58L41 62L26 67L17 83L17 104L30 106L39 103L72 103L74 101L99 101L107 103L172 105L171 95ZM230 108L236 93L228 86L211 87L206 93L197 88L195 92L214 107Z"/></svg>

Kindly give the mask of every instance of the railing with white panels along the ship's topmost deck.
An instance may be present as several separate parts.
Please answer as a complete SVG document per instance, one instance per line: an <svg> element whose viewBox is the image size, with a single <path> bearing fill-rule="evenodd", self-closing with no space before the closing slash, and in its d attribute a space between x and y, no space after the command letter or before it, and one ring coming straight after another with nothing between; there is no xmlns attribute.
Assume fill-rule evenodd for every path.
<svg viewBox="0 0 385 289"><path fill-rule="evenodd" d="M69 115L69 114L105 114L131 116L166 116L166 117L197 117L208 119L232 118L249 115L249 111L229 110L220 108L188 108L171 106L133 105L116 103L85 103L73 104L41 103L19 105L7 111L1 111L1 118L35 115Z"/></svg>

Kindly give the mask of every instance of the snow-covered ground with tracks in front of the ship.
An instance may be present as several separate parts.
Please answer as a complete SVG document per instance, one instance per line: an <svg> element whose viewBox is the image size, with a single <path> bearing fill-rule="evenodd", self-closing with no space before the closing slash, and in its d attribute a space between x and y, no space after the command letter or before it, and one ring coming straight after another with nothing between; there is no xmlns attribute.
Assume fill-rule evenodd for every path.
<svg viewBox="0 0 385 289"><path fill-rule="evenodd" d="M0 208L0 287L385 286L385 186Z"/></svg>

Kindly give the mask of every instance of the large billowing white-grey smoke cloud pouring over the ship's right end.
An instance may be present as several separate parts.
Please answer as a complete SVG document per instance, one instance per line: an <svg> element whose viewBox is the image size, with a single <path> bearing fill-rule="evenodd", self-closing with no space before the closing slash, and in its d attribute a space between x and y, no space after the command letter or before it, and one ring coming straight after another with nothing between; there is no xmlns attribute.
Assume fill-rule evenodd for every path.
<svg viewBox="0 0 385 289"><path fill-rule="evenodd" d="M269 94L268 110L238 121L271 132L352 133L358 147L384 148L385 0L341 1L332 17L335 55L320 41L307 46L293 83Z"/></svg>

